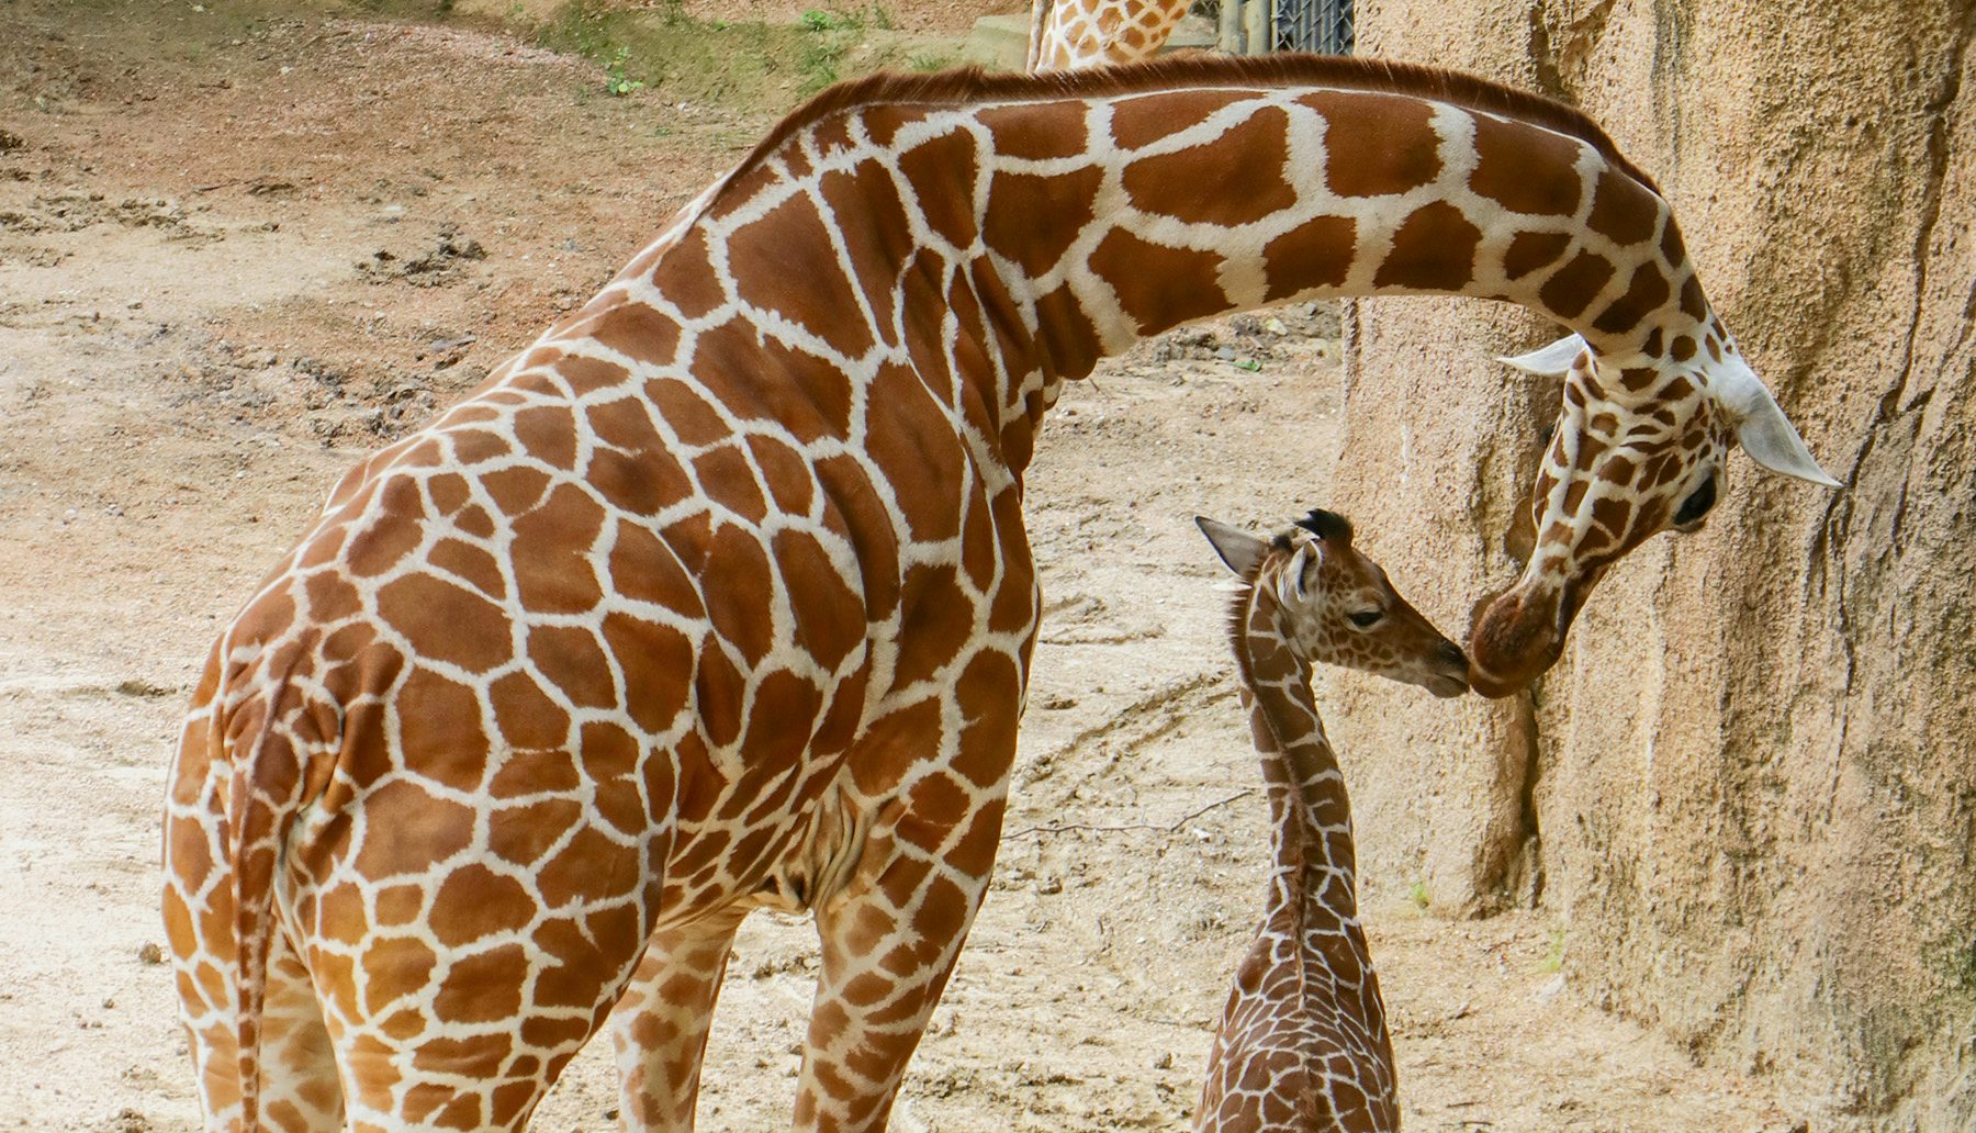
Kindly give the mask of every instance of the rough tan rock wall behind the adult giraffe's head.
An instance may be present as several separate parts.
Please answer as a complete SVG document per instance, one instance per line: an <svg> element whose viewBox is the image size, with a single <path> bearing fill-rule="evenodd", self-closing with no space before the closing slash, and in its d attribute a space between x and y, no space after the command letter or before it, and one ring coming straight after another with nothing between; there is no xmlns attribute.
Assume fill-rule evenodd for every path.
<svg viewBox="0 0 1976 1133"><path fill-rule="evenodd" d="M1844 492L1733 459L1591 597L1529 702L1338 680L1373 888L1539 902L1579 995L1786 1076L1820 1127L1976 1127L1976 8L1361 0L1359 49L1585 107ZM1555 336L1348 316L1336 506L1458 633L1504 585ZM1437 706L1439 708L1439 706Z"/></svg>

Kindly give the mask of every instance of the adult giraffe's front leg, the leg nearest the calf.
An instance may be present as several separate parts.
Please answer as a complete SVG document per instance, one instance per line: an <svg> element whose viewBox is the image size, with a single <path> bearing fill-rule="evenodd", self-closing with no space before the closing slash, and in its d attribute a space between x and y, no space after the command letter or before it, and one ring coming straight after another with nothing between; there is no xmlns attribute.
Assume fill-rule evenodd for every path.
<svg viewBox="0 0 1976 1133"><path fill-rule="evenodd" d="M895 787L877 809L858 870L822 900L822 969L796 1089L796 1129L883 1129L905 1064L988 892L1008 769L1016 757L1016 664L970 666L952 692L958 734L889 738L854 755L858 779ZM911 712L911 710L909 710ZM917 716L917 714L915 714ZM873 773L909 753L939 753ZM858 765L862 761L862 765Z"/></svg>

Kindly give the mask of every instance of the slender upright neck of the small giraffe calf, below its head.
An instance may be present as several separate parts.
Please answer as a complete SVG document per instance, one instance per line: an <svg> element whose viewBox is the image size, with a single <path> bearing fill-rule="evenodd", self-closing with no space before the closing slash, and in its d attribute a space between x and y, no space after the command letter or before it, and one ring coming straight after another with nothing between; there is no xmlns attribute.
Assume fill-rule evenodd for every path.
<svg viewBox="0 0 1976 1133"><path fill-rule="evenodd" d="M1298 935L1336 931L1358 917L1352 805L1310 692L1312 666L1282 641L1276 617L1269 585L1253 585L1231 635L1269 791L1269 919L1288 915Z"/></svg>

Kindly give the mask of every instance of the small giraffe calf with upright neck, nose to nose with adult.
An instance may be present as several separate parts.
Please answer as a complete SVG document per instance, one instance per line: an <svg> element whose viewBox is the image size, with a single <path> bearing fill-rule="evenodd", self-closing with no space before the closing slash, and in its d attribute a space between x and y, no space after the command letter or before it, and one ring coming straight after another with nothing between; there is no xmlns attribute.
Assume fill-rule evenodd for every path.
<svg viewBox="0 0 1976 1133"><path fill-rule="evenodd" d="M1344 516L1314 510L1273 540L1195 522L1247 583L1229 639L1263 753L1275 864L1269 914L1235 971L1194 1127L1399 1129L1393 1044L1358 921L1352 805L1310 670L1322 660L1460 696L1468 658L1352 548Z"/></svg>

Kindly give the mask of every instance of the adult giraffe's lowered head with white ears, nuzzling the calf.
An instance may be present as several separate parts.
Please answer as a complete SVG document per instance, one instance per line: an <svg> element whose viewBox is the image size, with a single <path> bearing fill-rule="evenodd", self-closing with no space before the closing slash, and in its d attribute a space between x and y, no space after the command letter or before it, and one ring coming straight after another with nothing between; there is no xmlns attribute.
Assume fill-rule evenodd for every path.
<svg viewBox="0 0 1976 1133"><path fill-rule="evenodd" d="M1713 318L1660 356L1620 362L1573 334L1504 362L1561 374L1565 395L1520 540L1523 573L1478 607L1468 635L1470 682L1484 696L1508 696L1557 662L1571 621L1620 556L1668 528L1699 530L1731 449L1838 486Z"/></svg>

